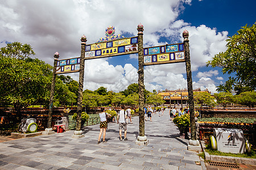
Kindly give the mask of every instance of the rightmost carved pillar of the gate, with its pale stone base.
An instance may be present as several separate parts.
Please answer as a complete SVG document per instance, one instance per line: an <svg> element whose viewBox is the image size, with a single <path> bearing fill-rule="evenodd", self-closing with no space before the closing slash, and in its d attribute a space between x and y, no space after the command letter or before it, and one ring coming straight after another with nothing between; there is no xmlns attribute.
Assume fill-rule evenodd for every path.
<svg viewBox="0 0 256 170"><path fill-rule="evenodd" d="M190 113L190 128L191 128L191 139L189 140L189 145L199 146L199 141L196 139L196 124L195 124L195 110L194 110L194 97L193 97L193 87L192 87L192 72L191 72L191 61L189 53L189 40L188 31L183 31L184 38L184 50L185 50L185 63L187 71L187 83L188 83L188 104Z"/></svg>

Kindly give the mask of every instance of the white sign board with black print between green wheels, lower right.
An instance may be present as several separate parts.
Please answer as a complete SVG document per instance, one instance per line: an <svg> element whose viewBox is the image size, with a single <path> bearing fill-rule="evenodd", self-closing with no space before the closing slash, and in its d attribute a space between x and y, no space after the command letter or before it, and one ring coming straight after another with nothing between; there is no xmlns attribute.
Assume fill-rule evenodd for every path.
<svg viewBox="0 0 256 170"><path fill-rule="evenodd" d="M243 154L245 152L245 138L241 129L214 128L218 151Z"/></svg>

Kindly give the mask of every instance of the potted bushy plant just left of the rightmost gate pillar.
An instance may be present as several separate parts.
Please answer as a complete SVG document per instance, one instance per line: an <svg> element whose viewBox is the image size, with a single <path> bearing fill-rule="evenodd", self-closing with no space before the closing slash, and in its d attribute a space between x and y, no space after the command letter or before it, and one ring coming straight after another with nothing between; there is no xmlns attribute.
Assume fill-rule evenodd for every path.
<svg viewBox="0 0 256 170"><path fill-rule="evenodd" d="M180 136L185 134L185 138L188 138L188 130L190 125L189 114L183 114L181 116L176 116L174 118L174 124L178 127L180 131Z"/></svg>

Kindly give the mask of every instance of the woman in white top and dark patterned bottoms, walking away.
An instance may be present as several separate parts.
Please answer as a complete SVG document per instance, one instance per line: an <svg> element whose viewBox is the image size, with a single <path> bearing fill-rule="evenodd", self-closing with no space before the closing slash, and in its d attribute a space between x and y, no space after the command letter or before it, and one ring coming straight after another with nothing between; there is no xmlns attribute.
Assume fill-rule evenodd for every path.
<svg viewBox="0 0 256 170"><path fill-rule="evenodd" d="M101 142L101 135L102 135L102 131L103 131L103 142L105 143L105 137L106 137L106 129L108 128L108 122L107 122L107 118L108 116L111 116L111 114L108 114L106 112L104 112L105 109L101 108L101 113L98 113L98 115L101 118L101 124L100 124L100 134L98 135L98 144Z"/></svg>

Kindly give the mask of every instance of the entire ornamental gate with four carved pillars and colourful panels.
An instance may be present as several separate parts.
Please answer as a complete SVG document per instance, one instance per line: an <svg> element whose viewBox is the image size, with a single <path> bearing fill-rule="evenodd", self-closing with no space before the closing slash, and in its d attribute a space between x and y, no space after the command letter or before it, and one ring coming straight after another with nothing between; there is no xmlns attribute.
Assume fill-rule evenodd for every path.
<svg viewBox="0 0 256 170"><path fill-rule="evenodd" d="M55 53L53 65L53 78L51 96L49 102L49 116L47 128L51 128L53 92L56 74L75 73L79 74L79 94L77 99L77 120L76 138L84 137L81 131L81 112L82 112L82 91L84 83L84 61L86 59L122 56L126 54L138 53L138 85L139 85L139 136L137 143L147 145L148 141L144 135L144 66L161 65L166 63L185 62L187 71L188 103L191 121L191 139L196 140L195 135L195 111L193 103L192 73L189 54L188 31L183 32L183 43L166 44L143 48L143 25L138 25L138 36L124 37L115 36L115 28L108 27L105 31L105 38L101 38L94 44L86 45L86 37L81 37L81 56L77 58L62 59L58 61L59 53ZM73 136L74 136L73 135Z"/></svg>

